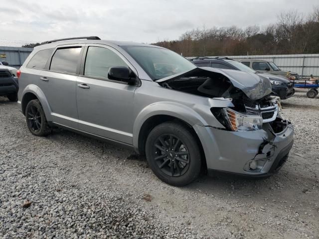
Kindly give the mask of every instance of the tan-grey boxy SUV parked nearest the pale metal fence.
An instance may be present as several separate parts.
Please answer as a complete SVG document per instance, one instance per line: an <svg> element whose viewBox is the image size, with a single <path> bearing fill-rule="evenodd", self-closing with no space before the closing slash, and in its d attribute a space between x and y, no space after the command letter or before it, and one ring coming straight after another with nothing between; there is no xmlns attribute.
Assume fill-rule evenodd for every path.
<svg viewBox="0 0 319 239"><path fill-rule="evenodd" d="M239 60L239 62L258 72L269 73L276 76L283 76L290 80L299 79L299 75L297 73L291 71L283 71L272 61L244 59Z"/></svg>

